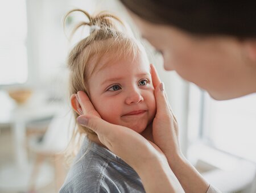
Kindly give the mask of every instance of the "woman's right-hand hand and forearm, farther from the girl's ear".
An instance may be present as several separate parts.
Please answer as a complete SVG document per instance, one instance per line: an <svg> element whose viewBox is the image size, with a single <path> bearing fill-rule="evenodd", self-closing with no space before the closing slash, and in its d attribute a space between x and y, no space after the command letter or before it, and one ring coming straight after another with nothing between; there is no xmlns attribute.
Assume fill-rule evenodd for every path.
<svg viewBox="0 0 256 193"><path fill-rule="evenodd" d="M171 170L185 192L207 192L209 183L181 153L177 120L168 103L163 83L160 82L153 65L151 65L151 75L156 100L156 116L152 124L154 142L167 157Z"/></svg>

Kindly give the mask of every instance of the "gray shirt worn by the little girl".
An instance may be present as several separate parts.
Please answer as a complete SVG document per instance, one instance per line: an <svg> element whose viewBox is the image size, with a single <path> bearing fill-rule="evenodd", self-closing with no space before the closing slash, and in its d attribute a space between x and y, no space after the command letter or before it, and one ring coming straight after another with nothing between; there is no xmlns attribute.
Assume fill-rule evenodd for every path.
<svg viewBox="0 0 256 193"><path fill-rule="evenodd" d="M60 192L145 191L133 168L108 149L85 137Z"/></svg>

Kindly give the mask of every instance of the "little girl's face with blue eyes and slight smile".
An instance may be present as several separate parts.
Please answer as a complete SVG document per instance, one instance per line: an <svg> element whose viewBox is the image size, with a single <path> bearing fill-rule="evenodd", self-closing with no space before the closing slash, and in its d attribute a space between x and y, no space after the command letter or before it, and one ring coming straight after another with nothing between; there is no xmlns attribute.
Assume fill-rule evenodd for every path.
<svg viewBox="0 0 256 193"><path fill-rule="evenodd" d="M101 58L88 81L90 99L101 118L141 133L154 119L156 107L150 66L141 56L114 54Z"/></svg>

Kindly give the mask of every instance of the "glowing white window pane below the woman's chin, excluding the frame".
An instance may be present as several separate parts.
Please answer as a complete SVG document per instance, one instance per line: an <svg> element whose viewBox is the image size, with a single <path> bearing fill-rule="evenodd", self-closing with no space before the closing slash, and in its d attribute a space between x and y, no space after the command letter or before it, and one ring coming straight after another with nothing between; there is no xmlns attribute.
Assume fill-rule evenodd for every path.
<svg viewBox="0 0 256 193"><path fill-rule="evenodd" d="M205 98L203 137L217 149L256 162L256 94L216 101Z"/></svg>

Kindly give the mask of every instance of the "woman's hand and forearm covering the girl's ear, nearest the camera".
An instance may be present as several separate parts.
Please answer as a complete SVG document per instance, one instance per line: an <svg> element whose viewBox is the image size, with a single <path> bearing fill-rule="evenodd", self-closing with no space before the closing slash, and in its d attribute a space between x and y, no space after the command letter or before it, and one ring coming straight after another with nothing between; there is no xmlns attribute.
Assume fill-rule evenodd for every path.
<svg viewBox="0 0 256 193"><path fill-rule="evenodd" d="M101 119L84 92L77 96L84 112L78 123L96 132L102 144L137 171L147 193L184 192L158 146L132 129Z"/></svg>

